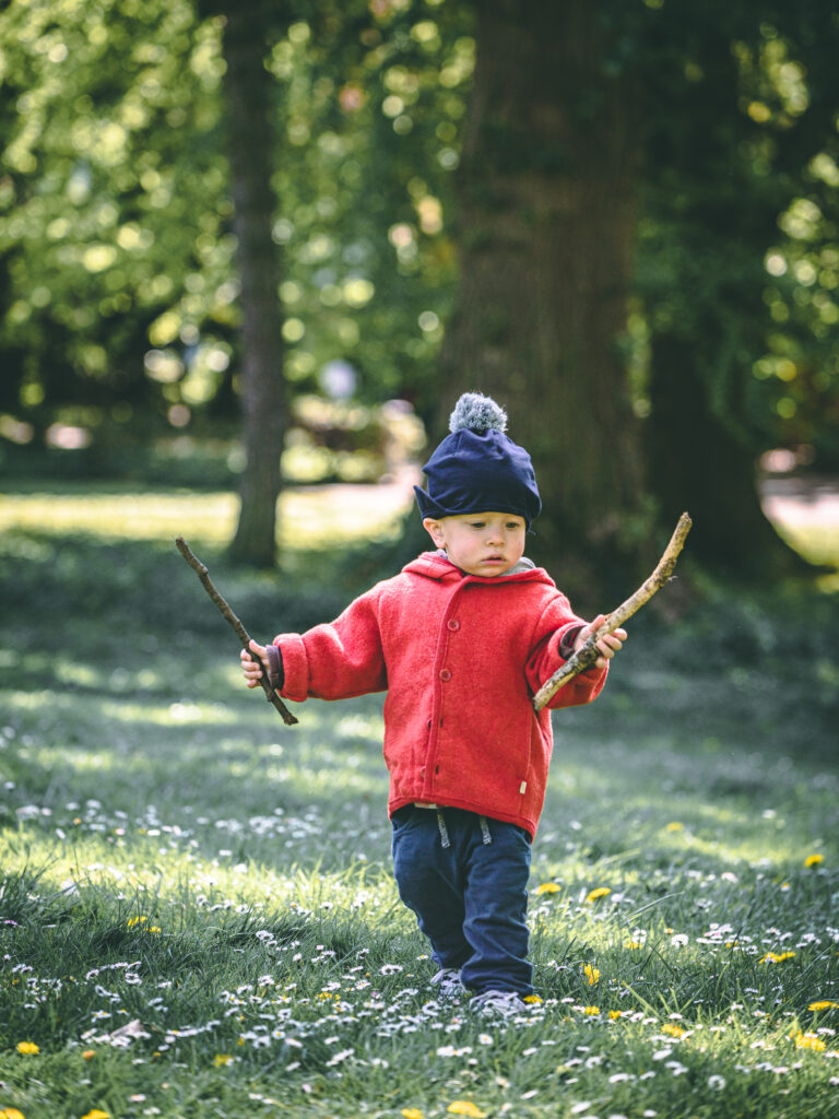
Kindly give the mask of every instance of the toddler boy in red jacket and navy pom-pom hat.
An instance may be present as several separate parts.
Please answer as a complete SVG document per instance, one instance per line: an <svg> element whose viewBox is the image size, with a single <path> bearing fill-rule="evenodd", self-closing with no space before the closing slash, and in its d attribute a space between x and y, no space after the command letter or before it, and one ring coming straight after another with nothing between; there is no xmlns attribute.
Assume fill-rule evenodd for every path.
<svg viewBox="0 0 839 1119"><path fill-rule="evenodd" d="M436 546L352 602L331 624L253 641L248 687L263 669L285 698L387 690L385 761L394 872L439 968L441 996L507 1015L532 994L527 959L530 844L545 799L550 713L532 696L581 648L586 623L525 558L541 509L530 457L489 397L464 394L415 487ZM588 703L626 634L597 642L593 668L549 706Z"/></svg>

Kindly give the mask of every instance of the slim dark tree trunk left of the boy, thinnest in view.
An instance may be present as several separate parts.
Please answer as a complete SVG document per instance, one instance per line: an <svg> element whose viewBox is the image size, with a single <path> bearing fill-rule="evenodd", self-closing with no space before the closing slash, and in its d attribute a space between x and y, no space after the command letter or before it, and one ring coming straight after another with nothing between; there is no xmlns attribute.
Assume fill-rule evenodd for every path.
<svg viewBox="0 0 839 1119"><path fill-rule="evenodd" d="M265 49L261 0L227 6L225 93L242 282L242 408L247 454L230 555L256 566L272 566L276 560L280 457L286 427L280 261L271 232L275 208L272 79L264 66Z"/></svg>

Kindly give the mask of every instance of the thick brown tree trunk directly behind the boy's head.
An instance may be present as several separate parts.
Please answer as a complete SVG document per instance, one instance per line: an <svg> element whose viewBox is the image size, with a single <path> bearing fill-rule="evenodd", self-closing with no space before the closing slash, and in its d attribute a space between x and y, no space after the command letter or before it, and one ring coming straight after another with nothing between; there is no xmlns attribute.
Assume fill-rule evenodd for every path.
<svg viewBox="0 0 839 1119"><path fill-rule="evenodd" d="M619 352L635 223L631 97L603 74L591 0L484 0L477 13L442 405L447 414L464 389L505 405L544 501L529 552L595 609L658 551L628 532L642 501Z"/></svg>

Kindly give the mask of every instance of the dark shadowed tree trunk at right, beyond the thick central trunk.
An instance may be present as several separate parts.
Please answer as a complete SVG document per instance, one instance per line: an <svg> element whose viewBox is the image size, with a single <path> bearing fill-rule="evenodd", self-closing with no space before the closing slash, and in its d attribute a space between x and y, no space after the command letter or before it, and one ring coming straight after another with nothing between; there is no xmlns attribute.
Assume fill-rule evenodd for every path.
<svg viewBox="0 0 839 1119"><path fill-rule="evenodd" d="M754 19L745 16L741 35ZM684 49L703 81L675 81L664 69L660 85L644 88L645 190L659 224L644 292L648 480L664 521L689 509L690 554L700 564L729 582L772 582L808 570L761 509L762 436L747 407L751 366L771 321L763 255L790 187L782 175L764 181L744 154L754 125L737 111L744 92L734 28L703 16L700 31ZM667 95L669 114L656 116ZM790 167L802 160L788 158Z"/></svg>

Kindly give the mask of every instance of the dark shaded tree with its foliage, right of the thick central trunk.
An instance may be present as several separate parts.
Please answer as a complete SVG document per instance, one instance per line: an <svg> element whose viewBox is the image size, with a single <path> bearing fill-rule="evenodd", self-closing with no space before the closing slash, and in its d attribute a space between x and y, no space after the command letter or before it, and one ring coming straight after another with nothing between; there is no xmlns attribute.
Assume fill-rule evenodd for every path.
<svg viewBox="0 0 839 1119"><path fill-rule="evenodd" d="M782 326L788 316L771 274L786 271L777 248L784 211L803 205L821 215L809 200L813 159L829 160L822 145L839 107L836 21L824 16L821 3L662 8L638 29L650 487L668 519L685 506L694 513L694 554L739 579L801 567L762 514L755 460L790 438L799 408L786 386L808 379L809 361L819 363L817 378L829 380L836 367L812 332L809 361L799 368L791 359L791 350L803 356L803 339ZM816 300L818 333L819 320L836 321L836 274L822 270L822 288L809 267L813 282L796 285L791 302L803 309ZM813 395L827 403L812 393L813 373L802 411ZM795 426L803 442L807 424Z"/></svg>

